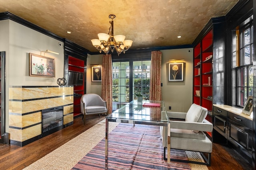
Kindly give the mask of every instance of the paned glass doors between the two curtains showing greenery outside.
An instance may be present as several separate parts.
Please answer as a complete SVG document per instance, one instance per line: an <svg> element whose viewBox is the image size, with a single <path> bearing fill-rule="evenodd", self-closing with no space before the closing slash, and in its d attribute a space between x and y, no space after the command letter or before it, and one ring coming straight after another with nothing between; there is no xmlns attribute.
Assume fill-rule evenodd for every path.
<svg viewBox="0 0 256 170"><path fill-rule="evenodd" d="M137 99L141 93L143 100L149 100L151 61L121 61L112 63L113 109Z"/></svg>

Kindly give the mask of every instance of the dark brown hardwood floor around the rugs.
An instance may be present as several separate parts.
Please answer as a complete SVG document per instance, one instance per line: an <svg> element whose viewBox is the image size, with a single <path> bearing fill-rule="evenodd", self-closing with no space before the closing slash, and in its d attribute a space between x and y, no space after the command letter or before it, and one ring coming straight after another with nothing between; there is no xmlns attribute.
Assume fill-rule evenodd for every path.
<svg viewBox="0 0 256 170"><path fill-rule="evenodd" d="M83 133L104 119L104 115L86 117L86 125L81 117L74 119L73 125L30 143L24 147L0 144L0 169L22 170L64 143ZM212 165L209 170L248 170L242 167L221 145L213 144Z"/></svg>

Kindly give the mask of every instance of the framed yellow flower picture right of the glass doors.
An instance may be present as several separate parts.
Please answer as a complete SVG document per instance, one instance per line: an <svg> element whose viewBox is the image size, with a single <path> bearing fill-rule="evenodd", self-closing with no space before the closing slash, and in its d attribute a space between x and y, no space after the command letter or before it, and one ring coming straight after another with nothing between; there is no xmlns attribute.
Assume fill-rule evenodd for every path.
<svg viewBox="0 0 256 170"><path fill-rule="evenodd" d="M172 81L183 81L184 75L184 63L168 63L169 72L168 77L170 82Z"/></svg>

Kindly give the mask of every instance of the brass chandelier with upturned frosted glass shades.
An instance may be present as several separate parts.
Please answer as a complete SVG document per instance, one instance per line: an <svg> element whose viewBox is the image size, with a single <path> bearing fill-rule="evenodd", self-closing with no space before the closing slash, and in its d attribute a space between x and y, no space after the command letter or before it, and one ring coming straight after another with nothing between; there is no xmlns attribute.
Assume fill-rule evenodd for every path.
<svg viewBox="0 0 256 170"><path fill-rule="evenodd" d="M108 18L111 19L109 23L111 24L109 27L108 34L106 33L98 33L99 39L92 39L92 45L98 50L103 51L104 53L108 54L108 52L111 50L111 52L114 52L114 49L116 49L116 52L118 56L123 52L127 51L132 46L132 40L124 40L124 35L115 35L114 36L114 19L116 18L115 15L109 15Z"/></svg>

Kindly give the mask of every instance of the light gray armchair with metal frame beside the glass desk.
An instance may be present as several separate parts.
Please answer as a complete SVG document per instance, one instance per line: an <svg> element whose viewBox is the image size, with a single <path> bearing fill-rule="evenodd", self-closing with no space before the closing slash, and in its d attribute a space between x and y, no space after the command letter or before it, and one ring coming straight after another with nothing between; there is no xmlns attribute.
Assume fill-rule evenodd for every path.
<svg viewBox="0 0 256 170"><path fill-rule="evenodd" d="M207 121L207 109L192 104L187 113L168 111L170 119L170 148L200 152L205 162L195 162L171 159L173 161L204 164L210 166L212 153L212 139L205 132L212 132L212 123ZM164 159L168 147L168 127L160 127ZM208 155L208 156L207 156ZM208 157L208 158L207 158Z"/></svg>

